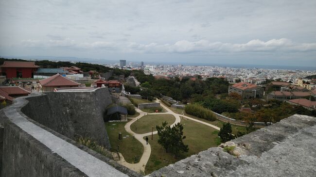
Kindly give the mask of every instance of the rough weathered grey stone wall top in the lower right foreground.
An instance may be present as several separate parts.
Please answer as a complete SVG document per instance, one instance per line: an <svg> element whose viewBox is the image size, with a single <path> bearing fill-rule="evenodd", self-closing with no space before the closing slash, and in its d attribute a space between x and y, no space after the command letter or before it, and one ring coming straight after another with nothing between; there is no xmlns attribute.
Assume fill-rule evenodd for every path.
<svg viewBox="0 0 316 177"><path fill-rule="evenodd" d="M314 177L315 134L316 117L296 114L148 177ZM226 146L232 150L224 151Z"/></svg>

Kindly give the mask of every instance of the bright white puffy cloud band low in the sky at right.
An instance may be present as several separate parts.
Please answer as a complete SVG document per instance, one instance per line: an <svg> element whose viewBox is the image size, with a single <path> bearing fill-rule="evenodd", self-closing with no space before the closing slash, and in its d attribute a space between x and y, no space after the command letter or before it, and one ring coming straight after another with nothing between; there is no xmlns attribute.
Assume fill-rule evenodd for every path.
<svg viewBox="0 0 316 177"><path fill-rule="evenodd" d="M275 52L275 51L316 51L316 43L294 43L289 39L271 39L262 41L259 39L250 40L245 44L233 44L222 42L209 42L208 40L199 40L190 42L187 40L177 41L173 45L158 45L151 43L149 45L130 43L127 48L129 51L139 52L167 52L167 53L190 53L190 52Z"/></svg>

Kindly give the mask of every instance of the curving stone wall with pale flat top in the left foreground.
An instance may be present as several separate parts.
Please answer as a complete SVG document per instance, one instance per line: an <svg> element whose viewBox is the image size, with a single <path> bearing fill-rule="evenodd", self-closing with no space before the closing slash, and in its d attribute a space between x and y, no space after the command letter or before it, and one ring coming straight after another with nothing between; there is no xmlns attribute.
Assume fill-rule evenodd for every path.
<svg viewBox="0 0 316 177"><path fill-rule="evenodd" d="M21 108L29 102L25 98L30 97L44 98L18 97L14 104L0 110L0 123L4 127L0 149L3 154L1 177L140 177L140 174L27 117ZM44 103L46 99L37 101Z"/></svg>

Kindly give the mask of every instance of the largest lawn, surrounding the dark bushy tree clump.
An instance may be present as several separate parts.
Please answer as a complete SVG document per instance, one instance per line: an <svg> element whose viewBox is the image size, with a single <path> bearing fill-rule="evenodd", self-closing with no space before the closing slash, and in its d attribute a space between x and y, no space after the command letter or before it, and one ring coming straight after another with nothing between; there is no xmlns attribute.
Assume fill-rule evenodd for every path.
<svg viewBox="0 0 316 177"><path fill-rule="evenodd" d="M181 119L183 125L183 134L186 139L183 140L185 145L189 145L189 152L183 153L181 157L175 159L170 153L166 153L158 144L158 135L154 135L154 140L149 138L148 143L151 146L151 155L145 167L145 173L149 174L159 168L167 166L176 161L180 161L193 154L197 154L210 147L218 146L220 139L217 136L217 131L209 126L194 122L192 120Z"/></svg>

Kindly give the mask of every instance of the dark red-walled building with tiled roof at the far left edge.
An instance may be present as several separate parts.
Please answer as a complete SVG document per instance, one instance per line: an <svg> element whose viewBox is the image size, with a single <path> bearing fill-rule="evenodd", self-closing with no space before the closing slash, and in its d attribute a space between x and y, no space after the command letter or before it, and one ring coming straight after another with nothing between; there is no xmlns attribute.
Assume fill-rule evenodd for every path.
<svg viewBox="0 0 316 177"><path fill-rule="evenodd" d="M5 61L0 65L2 75L7 78L33 78L39 66L35 62L11 62Z"/></svg>

